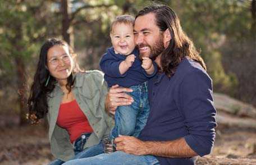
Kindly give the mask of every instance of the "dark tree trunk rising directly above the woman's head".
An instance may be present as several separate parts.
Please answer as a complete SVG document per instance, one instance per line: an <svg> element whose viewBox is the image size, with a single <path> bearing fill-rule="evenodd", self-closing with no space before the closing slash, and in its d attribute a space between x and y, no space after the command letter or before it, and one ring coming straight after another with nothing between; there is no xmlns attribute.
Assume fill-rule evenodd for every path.
<svg viewBox="0 0 256 165"><path fill-rule="evenodd" d="M61 1L62 10L62 36L63 39L74 48L74 31L71 26L70 13L71 13L71 3L69 0Z"/></svg>

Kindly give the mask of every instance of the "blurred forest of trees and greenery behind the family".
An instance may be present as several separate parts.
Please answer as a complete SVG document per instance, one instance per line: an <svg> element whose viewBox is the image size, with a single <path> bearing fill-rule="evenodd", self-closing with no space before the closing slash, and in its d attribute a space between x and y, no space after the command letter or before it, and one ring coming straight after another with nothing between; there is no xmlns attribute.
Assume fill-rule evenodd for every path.
<svg viewBox="0 0 256 165"><path fill-rule="evenodd" d="M256 1L159 2L176 11L182 28L196 48L201 49L214 92L256 106ZM100 57L111 45L110 22L117 15L136 15L149 3L143 0L0 0L0 127L13 122L26 125L24 100L45 39L65 39L75 48L81 67L98 69Z"/></svg>

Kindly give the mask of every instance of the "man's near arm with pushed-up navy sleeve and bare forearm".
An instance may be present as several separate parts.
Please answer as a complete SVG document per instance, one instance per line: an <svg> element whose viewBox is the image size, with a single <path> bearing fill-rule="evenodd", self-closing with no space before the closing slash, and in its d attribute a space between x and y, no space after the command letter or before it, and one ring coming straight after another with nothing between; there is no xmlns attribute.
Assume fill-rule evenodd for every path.
<svg viewBox="0 0 256 165"><path fill-rule="evenodd" d="M180 85L180 108L188 135L170 141L141 141L131 136L120 136L115 140L117 150L136 155L185 158L211 153L216 127L211 84L206 74L195 71Z"/></svg>

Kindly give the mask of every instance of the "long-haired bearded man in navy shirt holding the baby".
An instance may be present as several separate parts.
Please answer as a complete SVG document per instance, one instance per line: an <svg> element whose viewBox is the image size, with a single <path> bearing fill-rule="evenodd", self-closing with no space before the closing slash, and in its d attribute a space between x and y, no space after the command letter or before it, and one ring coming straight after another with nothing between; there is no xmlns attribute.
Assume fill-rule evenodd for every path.
<svg viewBox="0 0 256 165"><path fill-rule="evenodd" d="M145 7L136 16L134 34L141 57L159 67L148 83L147 125L138 139L116 138L117 152L74 164L194 164L196 155L211 153L216 127L212 80L179 18L168 6ZM129 91L113 86L106 99L109 111L131 104Z"/></svg>

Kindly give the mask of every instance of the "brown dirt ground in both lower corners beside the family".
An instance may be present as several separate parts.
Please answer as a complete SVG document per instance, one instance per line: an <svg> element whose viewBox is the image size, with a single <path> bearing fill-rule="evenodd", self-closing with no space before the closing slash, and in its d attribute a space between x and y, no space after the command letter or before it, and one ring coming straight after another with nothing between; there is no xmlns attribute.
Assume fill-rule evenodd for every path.
<svg viewBox="0 0 256 165"><path fill-rule="evenodd" d="M48 164L53 160L43 126L0 127L0 164ZM211 155L196 164L256 164L256 131L218 127Z"/></svg>

